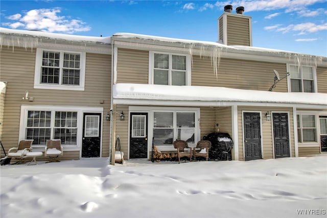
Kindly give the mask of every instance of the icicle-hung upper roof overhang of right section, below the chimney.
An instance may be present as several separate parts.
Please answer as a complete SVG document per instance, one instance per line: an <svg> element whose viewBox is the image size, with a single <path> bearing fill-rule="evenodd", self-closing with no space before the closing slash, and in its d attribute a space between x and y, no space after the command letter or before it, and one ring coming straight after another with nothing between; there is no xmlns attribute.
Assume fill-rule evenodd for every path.
<svg viewBox="0 0 327 218"><path fill-rule="evenodd" d="M211 41L115 33L111 37L111 42L115 47L127 49L178 51L179 53L204 57L237 58L279 63L306 63L314 66L327 67L327 57L259 47L226 46Z"/></svg>

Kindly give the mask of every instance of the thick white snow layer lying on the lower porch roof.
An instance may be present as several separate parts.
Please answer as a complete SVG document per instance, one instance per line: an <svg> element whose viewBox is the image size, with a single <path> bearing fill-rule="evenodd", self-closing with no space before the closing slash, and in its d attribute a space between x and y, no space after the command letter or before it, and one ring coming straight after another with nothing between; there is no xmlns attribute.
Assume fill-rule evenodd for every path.
<svg viewBox="0 0 327 218"><path fill-rule="evenodd" d="M113 98L327 105L327 94L323 93L281 93L211 86L176 86L133 83L114 84Z"/></svg>

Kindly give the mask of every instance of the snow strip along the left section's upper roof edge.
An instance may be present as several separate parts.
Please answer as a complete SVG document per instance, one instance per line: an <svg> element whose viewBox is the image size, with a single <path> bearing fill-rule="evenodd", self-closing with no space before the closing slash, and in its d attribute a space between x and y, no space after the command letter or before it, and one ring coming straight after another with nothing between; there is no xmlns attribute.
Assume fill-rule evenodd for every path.
<svg viewBox="0 0 327 218"><path fill-rule="evenodd" d="M48 38L54 40L63 40L63 41L77 41L77 42L88 42L88 43L101 43L101 44L110 44L111 37L95 37L95 36L80 36L80 35L68 35L68 34L59 34L59 33L48 33L42 31L31 31L31 30L13 30L0 27L0 42L1 45L6 45L4 41L8 39L9 36L25 36L25 37L35 37L35 38ZM10 39L9 39L10 40ZM5 43L3 43L5 42ZM11 46L11 45L9 45Z"/></svg>

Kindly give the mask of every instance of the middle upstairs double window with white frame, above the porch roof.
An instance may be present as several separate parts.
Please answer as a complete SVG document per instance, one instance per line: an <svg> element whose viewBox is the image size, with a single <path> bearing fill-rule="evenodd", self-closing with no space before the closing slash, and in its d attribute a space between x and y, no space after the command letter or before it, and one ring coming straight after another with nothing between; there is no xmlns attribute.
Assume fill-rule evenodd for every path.
<svg viewBox="0 0 327 218"><path fill-rule="evenodd" d="M150 83L159 85L190 85L189 55L150 52Z"/></svg>

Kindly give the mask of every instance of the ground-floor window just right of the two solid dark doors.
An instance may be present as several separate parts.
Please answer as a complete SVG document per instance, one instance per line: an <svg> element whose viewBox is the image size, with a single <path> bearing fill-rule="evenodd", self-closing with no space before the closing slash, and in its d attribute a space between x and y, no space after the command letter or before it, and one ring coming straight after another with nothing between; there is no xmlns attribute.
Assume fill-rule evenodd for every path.
<svg viewBox="0 0 327 218"><path fill-rule="evenodd" d="M298 114L296 117L298 142L317 142L316 115Z"/></svg>

